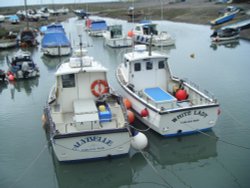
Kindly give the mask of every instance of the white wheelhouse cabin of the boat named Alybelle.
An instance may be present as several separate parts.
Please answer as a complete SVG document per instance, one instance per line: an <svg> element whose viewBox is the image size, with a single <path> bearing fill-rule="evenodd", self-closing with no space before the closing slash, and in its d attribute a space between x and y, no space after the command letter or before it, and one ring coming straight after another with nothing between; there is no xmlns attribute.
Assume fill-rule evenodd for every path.
<svg viewBox="0 0 250 188"><path fill-rule="evenodd" d="M92 101L86 108L93 106L96 96L92 93L92 84L96 80L107 80L107 69L99 64L94 68L94 63L89 56L82 57L82 61L71 57L69 63L62 64L57 70L56 90L60 104L57 108L61 113L76 112L78 107L74 104L78 104L78 100Z"/></svg>

